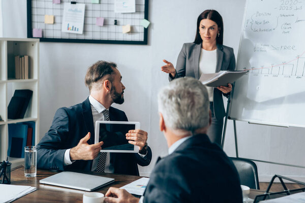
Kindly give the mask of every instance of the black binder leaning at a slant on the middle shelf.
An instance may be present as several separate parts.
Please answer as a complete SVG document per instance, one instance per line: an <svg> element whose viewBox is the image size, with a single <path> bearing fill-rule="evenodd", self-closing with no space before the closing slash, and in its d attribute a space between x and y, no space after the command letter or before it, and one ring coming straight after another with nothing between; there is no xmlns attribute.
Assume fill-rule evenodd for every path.
<svg viewBox="0 0 305 203"><path fill-rule="evenodd" d="M8 106L8 118L24 118L26 109L31 100L33 91L29 89L16 89Z"/></svg>

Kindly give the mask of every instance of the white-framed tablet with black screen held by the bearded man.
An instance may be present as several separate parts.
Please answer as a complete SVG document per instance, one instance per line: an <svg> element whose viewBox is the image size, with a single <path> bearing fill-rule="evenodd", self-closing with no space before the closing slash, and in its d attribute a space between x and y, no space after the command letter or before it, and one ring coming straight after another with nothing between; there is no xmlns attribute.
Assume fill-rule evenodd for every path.
<svg viewBox="0 0 305 203"><path fill-rule="evenodd" d="M101 152L137 153L138 146L126 139L126 133L134 129L140 129L140 122L96 121L95 143L104 142Z"/></svg>

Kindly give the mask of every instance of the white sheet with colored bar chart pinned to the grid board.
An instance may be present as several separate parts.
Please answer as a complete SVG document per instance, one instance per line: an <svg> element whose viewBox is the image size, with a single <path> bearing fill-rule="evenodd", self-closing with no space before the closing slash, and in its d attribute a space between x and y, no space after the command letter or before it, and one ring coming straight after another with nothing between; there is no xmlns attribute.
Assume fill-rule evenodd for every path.
<svg viewBox="0 0 305 203"><path fill-rule="evenodd" d="M64 4L62 32L83 33L85 4Z"/></svg>

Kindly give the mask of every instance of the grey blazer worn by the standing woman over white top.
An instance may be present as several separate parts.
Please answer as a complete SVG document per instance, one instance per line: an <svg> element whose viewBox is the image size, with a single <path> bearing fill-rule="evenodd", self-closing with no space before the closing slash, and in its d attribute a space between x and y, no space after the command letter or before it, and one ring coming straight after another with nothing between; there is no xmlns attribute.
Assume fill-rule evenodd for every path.
<svg viewBox="0 0 305 203"><path fill-rule="evenodd" d="M199 80L199 57L201 52L201 44L185 43L179 53L176 64L176 75L174 78L169 74L169 81L180 77L193 77ZM227 71L235 69L235 56L233 49L224 45L217 45L217 64L216 73L219 71ZM224 94L229 96L230 93ZM214 115L218 120L224 118L226 112L222 91L214 88Z"/></svg>

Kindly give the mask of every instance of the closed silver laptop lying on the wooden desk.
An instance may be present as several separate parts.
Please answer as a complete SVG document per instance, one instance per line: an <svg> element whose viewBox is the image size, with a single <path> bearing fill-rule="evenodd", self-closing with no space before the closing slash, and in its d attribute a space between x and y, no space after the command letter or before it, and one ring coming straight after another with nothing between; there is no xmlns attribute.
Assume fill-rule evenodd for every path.
<svg viewBox="0 0 305 203"><path fill-rule="evenodd" d="M112 182L114 182L113 178L75 172L61 172L39 181L39 183L43 184L56 185L85 191L93 191Z"/></svg>

